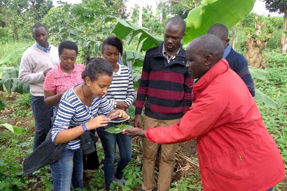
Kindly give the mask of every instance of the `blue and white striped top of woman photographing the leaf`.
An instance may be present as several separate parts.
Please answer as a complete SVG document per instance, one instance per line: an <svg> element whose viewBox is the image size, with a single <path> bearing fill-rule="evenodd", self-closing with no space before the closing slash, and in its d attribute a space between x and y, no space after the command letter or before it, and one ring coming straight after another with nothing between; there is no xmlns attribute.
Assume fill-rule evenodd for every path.
<svg viewBox="0 0 287 191"><path fill-rule="evenodd" d="M91 107L86 106L74 92L74 87L72 87L61 98L52 130L53 143L55 143L57 135L61 130L77 127L98 115L108 116L112 109L113 107L105 95L101 98L94 96ZM66 148L78 150L80 146L80 138L76 138L70 141Z"/></svg>

